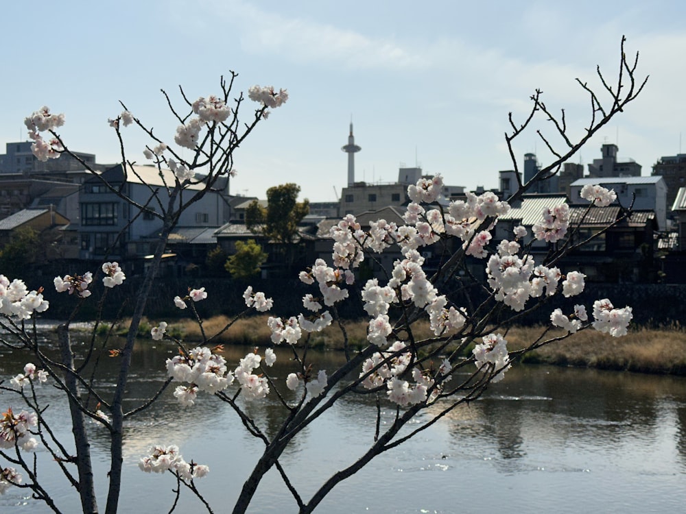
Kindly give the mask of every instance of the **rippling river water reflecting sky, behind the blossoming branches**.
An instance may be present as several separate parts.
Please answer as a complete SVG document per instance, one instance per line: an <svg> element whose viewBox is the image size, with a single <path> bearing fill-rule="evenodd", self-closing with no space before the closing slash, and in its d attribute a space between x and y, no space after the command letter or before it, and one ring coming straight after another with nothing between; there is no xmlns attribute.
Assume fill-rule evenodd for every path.
<svg viewBox="0 0 686 514"><path fill-rule="evenodd" d="M292 371L279 351L273 374ZM287 349L285 349L287 350ZM138 345L130 382L130 406L156 389L165 376L164 360L174 350L145 341ZM246 353L227 348L229 363ZM310 354L315 369L331 372L342 360L335 352ZM21 371L23 360L0 350L0 376ZM102 389L113 380L117 360L106 359ZM284 388L285 389L285 388ZM43 386L46 416L57 432L64 404ZM3 393L0 407L19 409ZM283 411L272 398L246 406L273 434ZM309 426L287 449L281 463L303 498L340 467L353 463L372 442L376 408L371 397L345 400ZM392 415L386 406L385 415ZM417 422L428 419L425 414ZM99 502L104 506L107 438L91 428ZM209 465L196 480L215 513L230 512L261 444L215 397L200 395L182 408L169 394L126 425L121 512L161 513L172 503L171 475L145 474L137 467L148 446L174 443L187 461ZM45 451L40 477L64 513L78 512L75 491L56 472ZM40 467L43 469L43 467ZM203 512L182 491L176 512ZM43 513L47 508L25 490L0 496L0 512ZM452 411L415 439L378 456L333 489L319 512L494 513L587 511L680 512L686 505L686 379L641 374L526 365L514 367L480 400ZM249 512L292 513L296 504L278 474L263 478Z"/></svg>

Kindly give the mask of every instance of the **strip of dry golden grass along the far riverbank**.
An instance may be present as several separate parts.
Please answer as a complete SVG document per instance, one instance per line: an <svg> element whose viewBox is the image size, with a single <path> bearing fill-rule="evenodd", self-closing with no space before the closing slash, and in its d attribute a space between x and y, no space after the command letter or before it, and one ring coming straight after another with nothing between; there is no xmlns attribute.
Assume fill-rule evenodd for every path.
<svg viewBox="0 0 686 514"><path fill-rule="evenodd" d="M267 318L264 315L239 319L214 341L264 345L270 338ZM226 317L207 319L203 322L205 333L207 336L216 334L228 321ZM366 321L346 320L343 323L351 347L363 347L367 336ZM170 328L180 331L186 341L202 340L198 325L191 320L171 323ZM543 327L511 328L506 334L508 349L516 351L530 345L541 336L543 330ZM429 337L428 323L417 323L414 334L417 339ZM548 331L545 339L561 335L563 332ZM340 350L343 347L342 332L334 323L322 332L311 334L309 343L312 347ZM681 327L639 328L617 338L595 330L582 330L563 341L550 343L526 354L523 362L686 375L686 332Z"/></svg>

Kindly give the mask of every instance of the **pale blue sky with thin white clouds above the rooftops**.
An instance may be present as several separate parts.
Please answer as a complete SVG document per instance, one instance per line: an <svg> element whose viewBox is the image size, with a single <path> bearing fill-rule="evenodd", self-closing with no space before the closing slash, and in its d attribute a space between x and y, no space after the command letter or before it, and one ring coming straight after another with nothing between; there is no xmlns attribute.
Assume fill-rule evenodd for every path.
<svg viewBox="0 0 686 514"><path fill-rule="evenodd" d="M26 139L23 119L43 105L64 112L69 147L99 163L119 159L107 123L119 101L171 144L178 123L161 89L207 97L235 71L236 92L273 85L289 100L236 151L231 193L264 198L295 182L300 197L335 201L351 119L355 180L394 182L399 167L419 165L449 185L495 188L513 168L508 112L523 121L539 88L580 137L590 104L576 78L600 88L600 66L615 81L622 35L648 84L572 161L614 143L650 175L661 156L686 153L680 1L34 0L3 3L2 18L0 153ZM541 117L514 142L520 168L528 152L551 161L539 129L553 134ZM143 164L144 134L124 136Z"/></svg>

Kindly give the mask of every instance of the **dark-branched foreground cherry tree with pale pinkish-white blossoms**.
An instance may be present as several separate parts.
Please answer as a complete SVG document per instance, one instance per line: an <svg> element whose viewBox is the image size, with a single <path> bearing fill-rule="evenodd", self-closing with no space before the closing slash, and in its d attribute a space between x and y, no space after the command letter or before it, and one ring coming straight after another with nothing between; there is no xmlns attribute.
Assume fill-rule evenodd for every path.
<svg viewBox="0 0 686 514"><path fill-rule="evenodd" d="M196 305L211 294L211 287L189 289L173 299L174 305L195 318L202 332L201 344L190 347L167 332L167 323L152 328L156 341L169 341L178 346L178 355L166 363L167 379L159 384L154 395L134 408L126 410L126 384L130 375L132 349L135 337L150 296L167 236L173 230L180 212L202 195L211 191L218 179L233 173L233 151L258 123L268 109L281 106L287 100L285 90L255 86L248 98L257 101L258 107L250 112L248 123L239 123L239 110L245 110L244 97L239 95L229 102L233 79L222 79L221 93L196 101L187 100L182 110L174 107L165 93L167 105L178 123L174 144L164 139L123 106L123 112L110 120L121 147L121 160L128 173L135 173L132 161L124 151L122 131L135 125L150 138L145 156L152 160L160 173L171 170L173 179L166 183L168 198L150 188L150 198L139 204L126 197L111 184L104 182L110 191L120 195L141 212L158 217L163 229L158 240L152 266L134 301L134 315L130 321L126 344L121 348L107 346L107 339L91 338L84 347L71 343L69 324L73 316L60 325L61 356L54 358L43 351L38 342L36 315L49 305L43 291L28 291L25 284L14 278L0 276L0 324L12 337L3 337L2 343L14 352L22 352L27 364L9 384L0 384L6 393L16 395L25 408L8 408L0 419L0 493L10 487L32 491L36 501L43 501L53 511L60 512L51 491L39 479L36 461L30 452L37 445L54 458L54 465L67 477L80 494L84 513L99 511L95 495L95 481L88 426L86 421L102 425L109 434L110 470L108 493L104 512L113 514L119 507L123 463L123 428L134 416L145 417L146 410L170 387L174 397L186 408L199 402L220 402L232 409L246 431L263 443L263 452L256 456L233 512L248 509L257 486L265 473L276 469L292 494L298 511L314 511L322 499L340 482L362 469L375 456L392 450L407 439L436 424L447 413L476 400L492 382L507 380L507 371L523 356L543 345L565 339L580 330L600 330L611 336L626 333L632 318L630 307L615 307L610 299L598 299L592 306L578 304L573 311L554 308L561 297L574 297L584 289L584 275L578 271L560 270L556 264L562 256L581 243L572 243L576 228L569 225L569 211L565 207L543 210L541 220L534 225L532 234L517 227L504 241L493 241L492 230L499 216L508 212L510 203L521 197L532 184L558 173L562 164L571 158L584 143L606 125L615 114L624 110L640 93L645 80L635 77L637 59L629 61L622 40L617 81L610 84L598 69L601 88L595 92L586 82L579 82L582 91L589 95L591 112L582 136L568 135L565 112L558 116L541 100L541 91L532 95L532 108L524 121L517 123L510 114L510 128L506 142L510 148L512 164L517 169L512 142L528 128L532 120L543 115L551 123L563 150L557 151L550 138L539 132L544 144L554 156L531 182L519 183L509 199L493 193L469 193L463 201L443 201L442 178L422 178L408 188L411 204L404 215L405 224L379 219L362 230L355 217L348 215L331 230L333 249L327 260L318 259L300 271L298 277L311 286L311 293L303 297L303 311L290 317L270 317L268 326L271 341L263 351L248 352L239 363L228 363L213 346L217 334L207 334ZM242 112L242 111L241 111ZM41 159L58 158L69 150L58 133L64 125L62 114L53 114L42 108L27 118L26 125L34 139L34 154ZM191 150L190 158L183 158L180 147ZM87 164L82 162L84 167ZM204 171L198 178L197 171ZM187 189L188 184L202 184L200 191ZM592 205L605 206L615 200L614 193L600 186L584 188L584 199ZM152 207L155 208L152 208ZM630 206L627 206L630 212ZM621 220L619 220L621 221ZM536 262L530 250L532 241L549 243L550 251ZM584 241L586 242L586 241ZM399 249L401 258L382 278L357 283L356 270L365 260L375 260L391 248ZM437 249L441 255L437 271L425 269L425 249ZM483 263L486 280L472 276L468 259ZM117 262L104 262L102 267L82 274L57 277L57 291L78 297L84 302L107 301L108 291L126 280L126 271ZM104 293L91 297L93 284L102 280ZM241 294L237 292L237 294ZM279 302L248 287L242 293L250 310L265 313ZM339 316L344 302L359 301L368 316L368 345L355 349L348 341L346 320ZM169 299L172 302L172 299ZM78 308L78 307L77 307ZM521 317L536 310L549 326L523 350L508 350L508 328ZM235 319L233 321L235 321ZM416 323L428 319L431 336L421 337ZM229 323L229 326L231 323ZM99 321L96 321L95 330ZM338 369L322 369L316 357L308 354L311 334L334 326L344 339L346 362ZM227 327L220 332L226 330ZM329 329L331 330L331 329ZM285 380L272 378L270 367L276 360L271 345L285 345L292 353L292 371ZM113 392L105 393L97 386L99 358L107 353L119 359L119 375ZM35 364L34 364L35 363ZM19 370L18 370L19 371ZM465 371L469 371L464 378ZM353 378L351 378L353 376ZM73 443L67 445L55 437L44 416L39 386L43 382L54 384L66 395L70 407ZM287 400L285 391L295 391L296 400ZM259 402L274 395L283 411L283 420L274 433L265 430L260 419L248 415L243 402ZM281 463L283 452L294 438L315 424L320 416L346 397L372 395L377 409L376 430L368 449L332 476L324 478L314 494L305 498L289 478L289 470ZM3 395L3 397L5 397ZM241 400L239 402L239 400ZM381 404L392 406L391 415L382 412ZM422 417L417 417L422 413ZM416 423L408 426L408 422ZM405 428L401 432L401 430ZM75 454L69 448L75 448ZM212 467L220 463L208 463ZM139 467L143 472L171 474L177 489L171 498L174 511L178 495L183 489L196 495L203 508L213 512L196 485L209 472L205 464L185 460L175 445L154 445L150 452L141 455Z"/></svg>

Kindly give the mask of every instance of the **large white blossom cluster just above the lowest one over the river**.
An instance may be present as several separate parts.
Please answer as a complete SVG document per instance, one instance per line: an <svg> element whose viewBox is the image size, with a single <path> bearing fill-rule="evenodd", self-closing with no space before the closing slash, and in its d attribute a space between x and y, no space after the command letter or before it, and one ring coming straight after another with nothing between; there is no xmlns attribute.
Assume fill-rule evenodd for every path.
<svg viewBox="0 0 686 514"><path fill-rule="evenodd" d="M207 347L196 347L166 361L167 374L178 382L188 382L174 390L174 397L183 406L195 403L198 391L214 394L233 383L234 376L226 368L224 357Z"/></svg>

